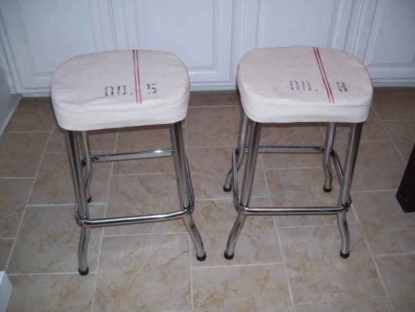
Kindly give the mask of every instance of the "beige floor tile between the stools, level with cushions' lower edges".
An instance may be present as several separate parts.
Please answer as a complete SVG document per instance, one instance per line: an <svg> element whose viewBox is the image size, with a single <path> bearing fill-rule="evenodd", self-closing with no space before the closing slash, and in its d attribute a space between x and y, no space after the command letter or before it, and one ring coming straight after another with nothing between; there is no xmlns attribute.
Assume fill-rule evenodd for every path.
<svg viewBox="0 0 415 312"><path fill-rule="evenodd" d="M235 146L240 115L239 107L190 108L187 111L187 146Z"/></svg>

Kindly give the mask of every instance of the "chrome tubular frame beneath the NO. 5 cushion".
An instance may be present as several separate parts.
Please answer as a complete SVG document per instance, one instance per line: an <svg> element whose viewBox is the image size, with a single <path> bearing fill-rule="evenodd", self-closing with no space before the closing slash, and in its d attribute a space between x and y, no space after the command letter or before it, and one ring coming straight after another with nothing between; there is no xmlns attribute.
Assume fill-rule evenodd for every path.
<svg viewBox="0 0 415 312"><path fill-rule="evenodd" d="M189 165L185 154L181 122L174 122L174 124L169 126L172 149L106 155L91 154L87 131L66 130L68 157L75 190L75 220L81 227L80 241L77 250L78 271L80 275L89 273L87 250L91 228L100 228L104 226L121 226L183 219L185 227L194 244L196 259L199 261L206 259L201 235L192 218L192 212L194 210L194 193ZM93 163L165 156L173 156L181 210L161 214L91 219L88 203L91 202L90 187L93 176Z"/></svg>

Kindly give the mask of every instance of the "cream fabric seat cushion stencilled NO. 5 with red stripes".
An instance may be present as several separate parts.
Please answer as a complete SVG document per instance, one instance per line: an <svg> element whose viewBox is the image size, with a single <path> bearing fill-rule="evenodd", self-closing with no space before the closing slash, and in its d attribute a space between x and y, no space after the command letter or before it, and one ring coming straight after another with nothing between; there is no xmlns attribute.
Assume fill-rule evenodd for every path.
<svg viewBox="0 0 415 312"><path fill-rule="evenodd" d="M190 83L172 53L109 51L64 62L50 95L57 122L67 130L160 125L185 118Z"/></svg>

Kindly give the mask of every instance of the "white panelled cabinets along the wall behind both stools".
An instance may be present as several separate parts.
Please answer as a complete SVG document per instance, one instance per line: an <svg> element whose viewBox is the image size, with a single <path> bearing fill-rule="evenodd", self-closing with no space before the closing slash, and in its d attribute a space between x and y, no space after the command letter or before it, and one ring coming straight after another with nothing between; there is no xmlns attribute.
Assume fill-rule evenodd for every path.
<svg viewBox="0 0 415 312"><path fill-rule="evenodd" d="M414 0L0 0L0 13L18 93L48 92L75 55L132 48L176 53L194 89L232 88L243 53L291 45L338 48L375 83L415 84Z"/></svg>

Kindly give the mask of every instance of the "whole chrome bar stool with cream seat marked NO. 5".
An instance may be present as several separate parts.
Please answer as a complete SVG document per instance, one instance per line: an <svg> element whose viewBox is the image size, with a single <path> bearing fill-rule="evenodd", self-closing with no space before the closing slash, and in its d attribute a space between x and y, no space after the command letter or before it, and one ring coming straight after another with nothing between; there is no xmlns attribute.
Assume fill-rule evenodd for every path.
<svg viewBox="0 0 415 312"><path fill-rule="evenodd" d="M75 219L81 227L78 270L89 272L87 249L91 228L183 219L196 250L206 257L192 219L194 194L185 155L181 120L187 115L190 82L185 65L164 51L110 51L80 55L64 62L52 79L53 109L65 129L75 189ZM169 124L172 149L92 155L88 131ZM129 217L91 219L93 163L173 156L180 209Z"/></svg>

